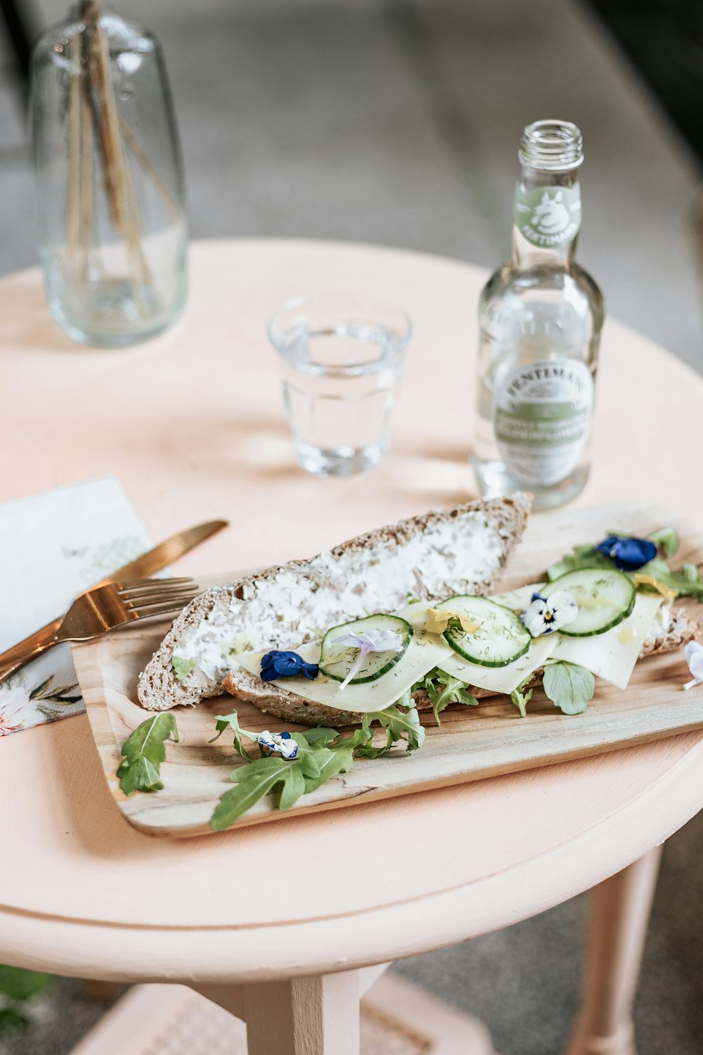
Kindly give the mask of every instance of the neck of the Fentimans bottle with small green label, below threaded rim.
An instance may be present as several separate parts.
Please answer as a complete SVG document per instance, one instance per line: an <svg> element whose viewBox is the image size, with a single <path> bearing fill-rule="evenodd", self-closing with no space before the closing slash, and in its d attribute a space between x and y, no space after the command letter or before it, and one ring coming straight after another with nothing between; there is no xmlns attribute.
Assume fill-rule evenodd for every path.
<svg viewBox="0 0 703 1055"><path fill-rule="evenodd" d="M523 167L512 216L513 267L568 269L581 230L579 169L545 172Z"/></svg>

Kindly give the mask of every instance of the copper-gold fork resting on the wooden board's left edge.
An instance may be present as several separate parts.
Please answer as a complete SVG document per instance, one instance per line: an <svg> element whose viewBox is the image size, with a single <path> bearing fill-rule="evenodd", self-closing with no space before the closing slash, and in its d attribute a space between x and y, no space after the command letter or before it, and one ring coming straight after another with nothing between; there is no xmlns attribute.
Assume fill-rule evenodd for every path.
<svg viewBox="0 0 703 1055"><path fill-rule="evenodd" d="M90 641L135 619L176 615L200 592L194 579L133 579L94 587L76 597L56 633L0 669L0 682L61 641Z"/></svg>

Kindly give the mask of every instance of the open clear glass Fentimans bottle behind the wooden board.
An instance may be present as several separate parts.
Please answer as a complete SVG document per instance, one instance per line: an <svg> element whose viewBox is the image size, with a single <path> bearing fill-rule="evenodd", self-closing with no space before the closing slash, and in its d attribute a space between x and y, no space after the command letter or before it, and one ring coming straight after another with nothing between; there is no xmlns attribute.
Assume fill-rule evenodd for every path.
<svg viewBox="0 0 703 1055"><path fill-rule="evenodd" d="M581 132L528 124L513 204L512 256L479 305L479 406L472 464L484 495L532 492L533 509L574 498L588 479L603 295L575 263Z"/></svg>

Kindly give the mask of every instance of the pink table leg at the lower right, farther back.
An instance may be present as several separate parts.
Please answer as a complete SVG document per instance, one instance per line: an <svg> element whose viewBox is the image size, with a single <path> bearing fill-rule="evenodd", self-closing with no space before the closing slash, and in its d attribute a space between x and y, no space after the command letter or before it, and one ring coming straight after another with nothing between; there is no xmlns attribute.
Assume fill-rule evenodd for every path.
<svg viewBox="0 0 703 1055"><path fill-rule="evenodd" d="M637 1055L632 1001L661 846L591 890L582 1009L565 1055Z"/></svg>

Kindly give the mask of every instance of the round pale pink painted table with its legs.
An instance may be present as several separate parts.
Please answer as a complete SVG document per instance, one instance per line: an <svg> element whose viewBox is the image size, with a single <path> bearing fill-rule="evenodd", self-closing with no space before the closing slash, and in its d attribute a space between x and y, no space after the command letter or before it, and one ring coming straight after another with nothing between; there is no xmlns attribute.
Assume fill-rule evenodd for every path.
<svg viewBox="0 0 703 1055"><path fill-rule="evenodd" d="M192 274L179 326L128 351L69 344L37 271L0 282L0 368L13 394L1 499L114 472L156 538L194 520L231 520L179 564L208 573L306 556L471 496L480 269L368 246L254 239L196 244ZM405 306L415 337L380 467L318 480L293 461L265 323L287 296L344 288ZM662 441L676 407L680 448L697 447L703 382L609 322L599 388L580 502L657 498L703 521L700 487L687 486ZM356 1055L359 992L375 965L588 888L588 971L568 1055L633 1055L658 847L703 805L701 731L154 841L114 808L83 715L3 738L0 754L0 961L183 982L247 1021L250 1055Z"/></svg>

